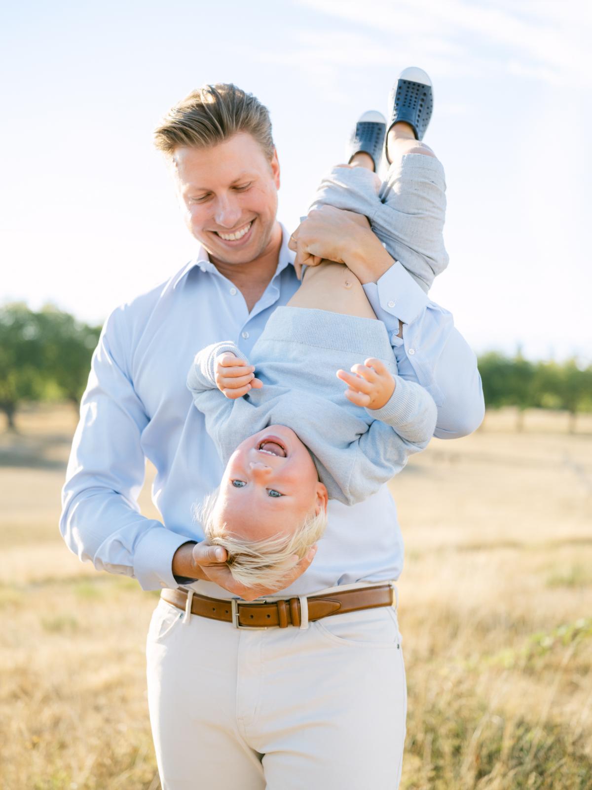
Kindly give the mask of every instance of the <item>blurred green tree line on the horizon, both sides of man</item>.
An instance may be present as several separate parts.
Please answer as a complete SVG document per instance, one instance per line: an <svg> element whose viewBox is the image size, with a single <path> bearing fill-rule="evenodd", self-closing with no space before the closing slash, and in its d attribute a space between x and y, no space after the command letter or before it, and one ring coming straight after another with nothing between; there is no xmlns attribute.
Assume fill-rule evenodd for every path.
<svg viewBox="0 0 592 790"><path fill-rule="evenodd" d="M78 407L100 331L52 305L0 307L0 409L9 428L21 401L67 400ZM579 412L592 412L592 366L575 359L531 362L520 353L489 352L479 358L479 371L487 408L517 407L519 430L526 408L568 412L571 431Z"/></svg>

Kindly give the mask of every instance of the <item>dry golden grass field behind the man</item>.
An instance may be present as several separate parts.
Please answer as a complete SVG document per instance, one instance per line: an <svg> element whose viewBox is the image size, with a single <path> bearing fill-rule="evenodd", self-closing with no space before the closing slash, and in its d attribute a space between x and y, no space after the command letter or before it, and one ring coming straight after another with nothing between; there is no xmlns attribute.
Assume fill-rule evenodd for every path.
<svg viewBox="0 0 592 790"><path fill-rule="evenodd" d="M157 790L144 677L157 593L62 542L71 409L17 424L0 423L0 787ZM488 415L393 483L405 790L592 788L592 419L566 425L532 412L516 434L510 412Z"/></svg>

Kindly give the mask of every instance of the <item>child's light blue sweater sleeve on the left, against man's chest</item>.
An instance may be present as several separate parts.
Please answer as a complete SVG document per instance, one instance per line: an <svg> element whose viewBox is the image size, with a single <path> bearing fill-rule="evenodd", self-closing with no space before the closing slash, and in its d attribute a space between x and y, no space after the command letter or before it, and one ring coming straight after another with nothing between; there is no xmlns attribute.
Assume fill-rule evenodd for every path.
<svg viewBox="0 0 592 790"><path fill-rule="evenodd" d="M197 352L187 374L187 388L193 396L193 404L204 414L206 430L216 442L219 452L219 431L232 414L234 401L227 398L216 386L215 359L228 351L239 359L246 359L230 340L214 343Z"/></svg>

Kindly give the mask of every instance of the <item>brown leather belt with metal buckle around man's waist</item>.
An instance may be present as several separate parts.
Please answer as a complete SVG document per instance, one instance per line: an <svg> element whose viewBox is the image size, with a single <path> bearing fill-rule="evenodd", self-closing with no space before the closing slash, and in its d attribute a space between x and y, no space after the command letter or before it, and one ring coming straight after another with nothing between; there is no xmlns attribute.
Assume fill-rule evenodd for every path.
<svg viewBox="0 0 592 790"><path fill-rule="evenodd" d="M160 597L179 609L187 605L187 592L166 588ZM372 609L377 606L392 606L392 585L362 587L360 589L331 592L328 595L306 596L309 620L320 620L328 615L342 615L347 611ZM232 623L236 628L286 628L302 624L302 609L299 598L274 601L253 601L209 598L193 593L191 613Z"/></svg>

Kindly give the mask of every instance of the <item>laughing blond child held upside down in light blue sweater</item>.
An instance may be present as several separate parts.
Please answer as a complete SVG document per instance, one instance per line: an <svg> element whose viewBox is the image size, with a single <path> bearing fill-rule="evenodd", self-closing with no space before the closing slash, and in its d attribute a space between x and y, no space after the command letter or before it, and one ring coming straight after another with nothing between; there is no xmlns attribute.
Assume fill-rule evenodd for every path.
<svg viewBox="0 0 592 790"><path fill-rule="evenodd" d="M335 168L313 207L368 216L389 254L426 290L447 262L444 175L415 137L429 120L425 97L412 114L401 98L429 92L427 75L418 73L421 88L404 72L393 98L387 153L397 161L387 182L373 172L385 124L366 114L350 144L356 166ZM423 239L424 226L431 240ZM226 463L200 511L206 538L227 549L237 581L271 588L321 536L328 498L362 501L427 446L436 406L425 389L397 375L391 340L359 280L328 261L306 269L287 307L269 319L251 362L230 341L213 344L197 354L187 383ZM349 387L345 394L335 371Z"/></svg>

